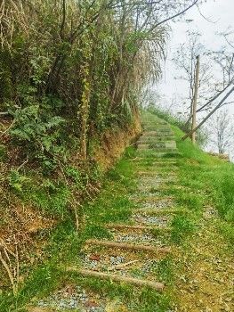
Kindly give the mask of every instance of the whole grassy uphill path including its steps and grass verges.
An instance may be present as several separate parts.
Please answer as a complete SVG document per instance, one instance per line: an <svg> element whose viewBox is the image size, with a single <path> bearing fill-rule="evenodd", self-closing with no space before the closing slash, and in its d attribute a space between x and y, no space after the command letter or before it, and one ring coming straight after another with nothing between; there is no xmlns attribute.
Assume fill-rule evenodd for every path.
<svg viewBox="0 0 234 312"><path fill-rule="evenodd" d="M44 251L51 257L1 311L234 310L232 236L221 231L229 223L198 176L220 162L188 143L178 152L156 116L145 114L143 126L138 150L128 149L85 203L81 233L61 225Z"/></svg>

